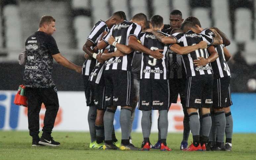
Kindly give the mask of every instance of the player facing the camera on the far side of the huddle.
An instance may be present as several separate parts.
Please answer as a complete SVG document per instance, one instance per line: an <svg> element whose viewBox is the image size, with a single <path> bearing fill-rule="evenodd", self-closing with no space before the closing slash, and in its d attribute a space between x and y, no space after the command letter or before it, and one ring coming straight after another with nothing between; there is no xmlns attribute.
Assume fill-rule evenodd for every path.
<svg viewBox="0 0 256 160"><path fill-rule="evenodd" d="M182 13L179 10L173 10L170 13L170 28L163 30L162 32L169 35L173 34L174 28L180 28L183 22ZM188 139L190 134L189 115L187 113L185 104L185 86L186 86L186 71L184 64L182 63L182 55L171 52L169 53L169 83L170 83L170 103L177 103L178 95L180 95L181 104L184 112L183 119L183 139L181 141L180 149L188 147ZM157 145L158 144L158 145ZM156 143L154 147L159 146Z"/></svg>

